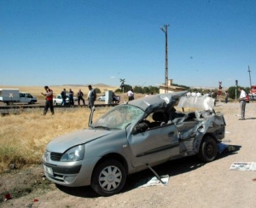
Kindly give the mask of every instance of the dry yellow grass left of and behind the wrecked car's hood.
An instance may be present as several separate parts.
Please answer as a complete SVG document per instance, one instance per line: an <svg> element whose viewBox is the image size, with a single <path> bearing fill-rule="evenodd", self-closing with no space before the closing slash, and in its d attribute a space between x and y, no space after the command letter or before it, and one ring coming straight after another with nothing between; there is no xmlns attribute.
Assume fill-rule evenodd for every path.
<svg viewBox="0 0 256 208"><path fill-rule="evenodd" d="M108 110L98 107L94 119ZM0 119L0 172L9 166L22 168L41 163L46 144L55 136L88 126L90 109L87 107L55 108L55 115L43 109L22 110Z"/></svg>

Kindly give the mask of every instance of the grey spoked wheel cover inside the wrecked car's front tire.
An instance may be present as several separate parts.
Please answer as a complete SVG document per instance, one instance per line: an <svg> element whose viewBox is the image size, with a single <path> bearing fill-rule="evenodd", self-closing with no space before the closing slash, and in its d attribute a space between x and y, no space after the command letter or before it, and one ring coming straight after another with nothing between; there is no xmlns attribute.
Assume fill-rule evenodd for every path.
<svg viewBox="0 0 256 208"><path fill-rule="evenodd" d="M99 176L99 184L106 191L118 188L122 181L122 172L117 166L105 167Z"/></svg>

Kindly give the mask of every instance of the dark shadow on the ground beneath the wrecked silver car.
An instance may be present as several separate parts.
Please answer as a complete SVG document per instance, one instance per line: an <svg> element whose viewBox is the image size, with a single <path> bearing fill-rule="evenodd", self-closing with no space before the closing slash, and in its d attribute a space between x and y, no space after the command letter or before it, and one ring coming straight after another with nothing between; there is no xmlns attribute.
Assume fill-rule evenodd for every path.
<svg viewBox="0 0 256 208"><path fill-rule="evenodd" d="M221 153L218 153L217 159L223 159L224 157L228 157L232 154L235 154L239 151L241 146L236 145L226 145ZM159 176L166 176L169 177L176 176L179 174L183 174L197 168L201 168L206 163L201 162L196 156L186 157L183 159L175 159L168 161L162 165L154 166L153 170ZM131 176L127 176L125 187L121 190L120 193L125 193L131 191L132 189L138 188L143 184L146 184L152 177L154 177L154 173L147 169L141 172L132 174ZM63 187L61 185L56 184L56 188L60 189L62 192L66 194L70 194L76 197L82 198L96 198L99 197L90 186L87 187L78 187L78 188L70 188L70 187Z"/></svg>

